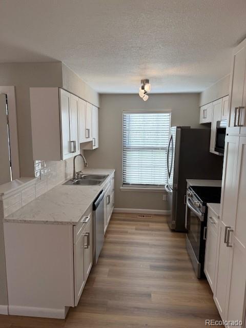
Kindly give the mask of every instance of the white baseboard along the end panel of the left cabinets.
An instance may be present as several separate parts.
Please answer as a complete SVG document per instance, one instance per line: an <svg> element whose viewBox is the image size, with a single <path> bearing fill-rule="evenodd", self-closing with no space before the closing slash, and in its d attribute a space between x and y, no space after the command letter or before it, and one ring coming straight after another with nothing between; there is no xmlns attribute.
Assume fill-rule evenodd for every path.
<svg viewBox="0 0 246 328"><path fill-rule="evenodd" d="M63 309L46 309L9 305L9 314L14 316L65 319L67 312L67 306Z"/></svg>

